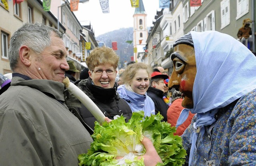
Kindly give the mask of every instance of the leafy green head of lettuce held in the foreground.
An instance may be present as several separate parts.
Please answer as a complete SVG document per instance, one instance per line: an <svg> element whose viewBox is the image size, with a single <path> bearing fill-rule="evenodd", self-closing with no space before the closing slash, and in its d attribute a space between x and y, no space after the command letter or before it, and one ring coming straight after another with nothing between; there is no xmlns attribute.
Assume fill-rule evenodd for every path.
<svg viewBox="0 0 256 166"><path fill-rule="evenodd" d="M158 166L182 166L185 163L186 150L175 127L162 122L159 113L144 117L144 112L134 112L128 123L123 116L100 125L95 122L93 143L86 154L80 154L80 166L144 166L145 148L141 141L148 137L163 163ZM121 159L115 159L123 156Z"/></svg>

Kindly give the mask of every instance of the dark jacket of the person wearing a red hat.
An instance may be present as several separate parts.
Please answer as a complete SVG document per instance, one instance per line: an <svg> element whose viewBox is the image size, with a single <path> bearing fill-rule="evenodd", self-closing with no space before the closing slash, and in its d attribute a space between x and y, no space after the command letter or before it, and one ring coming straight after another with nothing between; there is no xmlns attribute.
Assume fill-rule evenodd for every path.
<svg viewBox="0 0 256 166"><path fill-rule="evenodd" d="M162 90L149 87L147 90L147 95L153 100L155 104L156 114L160 112L160 114L164 117L164 121L167 121L167 109L168 105L164 102Z"/></svg>

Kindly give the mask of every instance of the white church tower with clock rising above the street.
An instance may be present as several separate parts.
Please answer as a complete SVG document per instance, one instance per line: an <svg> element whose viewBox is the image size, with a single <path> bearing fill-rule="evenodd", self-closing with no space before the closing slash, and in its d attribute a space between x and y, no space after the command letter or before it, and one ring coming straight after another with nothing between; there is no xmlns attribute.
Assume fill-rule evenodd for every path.
<svg viewBox="0 0 256 166"><path fill-rule="evenodd" d="M144 9L143 1L139 0L139 7L135 8L135 12L133 15L133 57L135 62L138 62L138 53L144 52L143 47L146 47L146 40L148 38L146 18L147 14Z"/></svg>

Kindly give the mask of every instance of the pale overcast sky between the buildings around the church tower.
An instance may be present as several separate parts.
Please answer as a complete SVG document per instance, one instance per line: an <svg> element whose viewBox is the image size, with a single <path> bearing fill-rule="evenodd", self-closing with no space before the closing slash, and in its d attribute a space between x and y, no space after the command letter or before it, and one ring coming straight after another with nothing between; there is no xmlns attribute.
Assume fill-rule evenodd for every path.
<svg viewBox="0 0 256 166"><path fill-rule="evenodd" d="M161 10L159 0L143 0L143 4L147 14L147 27L151 27L156 11ZM109 10L109 13L103 14L99 0L89 0L84 4L79 3L78 11L74 14L81 25L91 23L95 37L120 28L133 27L135 8L132 8L130 0L109 0Z"/></svg>

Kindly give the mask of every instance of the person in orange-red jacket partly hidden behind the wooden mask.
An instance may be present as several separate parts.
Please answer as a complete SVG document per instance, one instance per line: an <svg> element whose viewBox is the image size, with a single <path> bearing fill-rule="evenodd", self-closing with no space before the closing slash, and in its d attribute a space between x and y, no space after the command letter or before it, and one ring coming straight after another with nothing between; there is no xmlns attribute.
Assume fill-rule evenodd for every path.
<svg viewBox="0 0 256 166"><path fill-rule="evenodd" d="M182 93L180 91L174 90L172 94L172 104L167 110L167 122L170 123L171 126L176 126L180 113L182 109L184 109L184 107L182 107L181 105L182 100ZM190 125L192 117L194 115L195 114L190 112L188 115L188 119L176 129L176 133L174 133L174 135L181 136L183 132L186 130L186 128Z"/></svg>

